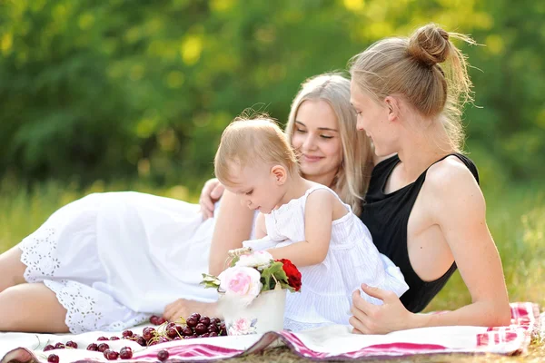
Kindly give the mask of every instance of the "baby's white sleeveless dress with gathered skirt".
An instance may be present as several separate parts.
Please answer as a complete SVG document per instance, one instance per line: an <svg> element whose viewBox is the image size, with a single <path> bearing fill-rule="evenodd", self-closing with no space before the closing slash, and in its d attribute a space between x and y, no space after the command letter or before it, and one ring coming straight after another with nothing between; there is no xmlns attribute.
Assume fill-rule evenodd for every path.
<svg viewBox="0 0 545 363"><path fill-rule="evenodd" d="M254 250L265 250L304 240L306 200L312 191L318 189L326 189L337 196L324 186L309 189L301 198L265 215L267 237L262 240L246 240L243 245ZM372 243L371 233L352 213L350 205L342 204L348 213L332 221L332 240L325 260L299 268L302 288L300 292L288 292L284 329L296 331L330 324L348 325L352 292L360 289L362 283L391 290L397 296L409 289L401 270L377 250ZM362 290L361 293L362 298L381 304L380 299L374 299Z"/></svg>

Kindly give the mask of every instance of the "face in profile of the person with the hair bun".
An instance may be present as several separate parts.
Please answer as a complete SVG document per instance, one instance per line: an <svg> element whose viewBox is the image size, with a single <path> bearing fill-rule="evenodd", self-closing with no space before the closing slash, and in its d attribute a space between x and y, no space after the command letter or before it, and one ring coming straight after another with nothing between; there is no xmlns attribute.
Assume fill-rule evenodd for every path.
<svg viewBox="0 0 545 363"><path fill-rule="evenodd" d="M388 121L389 108L376 103L353 81L350 83L350 102L358 115L356 128L371 138L375 154L387 156L396 152L393 147L395 131Z"/></svg>

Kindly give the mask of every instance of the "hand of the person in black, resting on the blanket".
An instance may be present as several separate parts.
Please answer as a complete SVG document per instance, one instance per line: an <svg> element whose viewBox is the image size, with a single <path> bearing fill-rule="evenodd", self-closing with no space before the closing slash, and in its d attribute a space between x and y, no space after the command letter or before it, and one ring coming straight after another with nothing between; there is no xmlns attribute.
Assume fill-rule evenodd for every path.
<svg viewBox="0 0 545 363"><path fill-rule="evenodd" d="M418 328L415 314L405 309L401 300L391 291L372 288L362 284L362 290L369 296L383 301L382 305L374 305L362 299L360 291L352 293L352 333L387 334L391 331Z"/></svg>

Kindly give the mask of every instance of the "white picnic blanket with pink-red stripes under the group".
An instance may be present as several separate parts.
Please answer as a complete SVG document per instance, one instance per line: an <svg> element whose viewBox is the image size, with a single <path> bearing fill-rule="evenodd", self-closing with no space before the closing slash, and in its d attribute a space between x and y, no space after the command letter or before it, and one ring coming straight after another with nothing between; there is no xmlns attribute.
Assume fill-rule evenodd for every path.
<svg viewBox="0 0 545 363"><path fill-rule="evenodd" d="M510 304L509 327L434 327L396 331L386 335L355 335L348 326L332 326L301 332L268 332L240 337L195 338L176 340L151 347L140 347L130 340L112 340L110 348L118 350L128 346L134 356L128 361L157 361L157 352L167 349L169 359L209 361L236 358L262 351L264 348L285 344L293 353L315 360L352 358L385 358L417 354L438 353L497 353L523 354L533 335L539 334L541 320L539 306L531 302ZM141 333L144 326L132 329ZM86 350L88 344L101 336L121 336L121 332L89 332L72 334L0 333L0 363L11 360L46 362L54 353L65 362L106 362L103 353ZM47 344L73 340L78 348L54 349L44 352ZM100 343L98 341L97 343Z"/></svg>

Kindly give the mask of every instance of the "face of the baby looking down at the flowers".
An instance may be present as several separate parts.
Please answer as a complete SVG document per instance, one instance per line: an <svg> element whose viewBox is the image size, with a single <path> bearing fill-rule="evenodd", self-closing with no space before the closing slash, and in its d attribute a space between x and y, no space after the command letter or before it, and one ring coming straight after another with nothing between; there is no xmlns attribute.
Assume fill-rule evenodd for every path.
<svg viewBox="0 0 545 363"><path fill-rule="evenodd" d="M265 214L270 213L282 200L282 189L277 184L270 165L242 168L236 173L233 184L225 188L235 193L249 209Z"/></svg>

